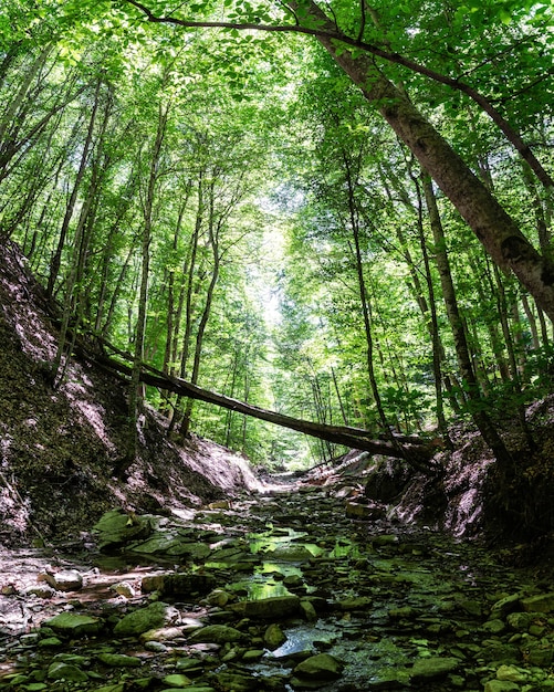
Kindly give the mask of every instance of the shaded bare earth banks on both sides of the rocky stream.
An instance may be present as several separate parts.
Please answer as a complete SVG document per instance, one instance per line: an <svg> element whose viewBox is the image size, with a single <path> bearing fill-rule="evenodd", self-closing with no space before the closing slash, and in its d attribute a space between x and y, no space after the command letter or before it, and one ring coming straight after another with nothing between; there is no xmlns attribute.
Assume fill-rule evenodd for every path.
<svg viewBox="0 0 554 692"><path fill-rule="evenodd" d="M112 507L186 517L215 501L264 490L240 454L195 436L177 445L165 434L165 421L149 410L143 416L136 463L126 480L115 478L127 443L125 385L72 359L64 382L53 389L55 349L56 327L44 292L18 248L0 247L1 544L77 538ZM416 474L403 462L352 452L342 463L297 480L345 487L363 518L385 513L458 537L488 535L506 545L510 538L524 541L516 559L532 560L547 555L554 525L554 398L533 405L527 419L537 442L534 453L525 451L515 424L503 423L519 461L519 478L508 495L498 494L489 450L461 426L452 431L456 451L436 457L441 475ZM537 518L531 533L530 512ZM523 523L526 531L520 532Z"/></svg>

